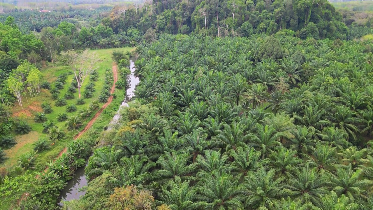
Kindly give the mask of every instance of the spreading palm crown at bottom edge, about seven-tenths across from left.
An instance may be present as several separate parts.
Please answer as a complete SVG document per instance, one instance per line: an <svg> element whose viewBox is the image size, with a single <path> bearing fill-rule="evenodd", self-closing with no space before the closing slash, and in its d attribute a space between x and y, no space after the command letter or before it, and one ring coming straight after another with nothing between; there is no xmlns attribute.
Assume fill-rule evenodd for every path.
<svg viewBox="0 0 373 210"><path fill-rule="evenodd" d="M284 177L275 178L275 170L268 172L261 167L257 172L250 172L245 177L245 209L278 209L280 199L291 195L291 191L282 184Z"/></svg>

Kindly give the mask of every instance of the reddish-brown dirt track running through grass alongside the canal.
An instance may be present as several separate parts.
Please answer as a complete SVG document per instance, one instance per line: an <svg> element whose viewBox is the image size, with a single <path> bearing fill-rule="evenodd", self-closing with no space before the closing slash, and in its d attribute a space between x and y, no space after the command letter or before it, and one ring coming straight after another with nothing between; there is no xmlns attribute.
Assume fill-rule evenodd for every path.
<svg viewBox="0 0 373 210"><path fill-rule="evenodd" d="M116 65L113 65L113 77L114 77L114 82L113 82L113 86L112 86L112 89L110 90L110 93L113 94L114 93L114 90L115 90L115 83L117 82L118 80L118 70L117 70L117 66ZM78 139L81 135L83 135L83 133L87 132L88 129L90 129L90 127L92 127L93 123L97 120L98 116L100 116L100 114L104 111L104 109L109 106L109 104L113 101L113 96L110 96L109 99L107 99L107 102L101 107L100 110L97 111L97 113L94 115L94 117L88 122L88 124L84 127L84 129L78 133L78 135L74 136L74 140ZM66 153L68 151L68 148L65 147L65 149L63 149L60 154L58 154L58 156L54 159L56 160L57 158L61 157L63 153ZM46 167L46 169L44 169L44 172L47 172L48 170L48 167ZM38 177L38 176L37 176Z"/></svg>

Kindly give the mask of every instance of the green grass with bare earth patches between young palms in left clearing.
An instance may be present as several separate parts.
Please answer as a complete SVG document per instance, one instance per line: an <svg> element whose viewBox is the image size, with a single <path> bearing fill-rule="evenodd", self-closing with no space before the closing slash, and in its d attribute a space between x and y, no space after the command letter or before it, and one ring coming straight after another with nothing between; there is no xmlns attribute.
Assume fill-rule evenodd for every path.
<svg viewBox="0 0 373 210"><path fill-rule="evenodd" d="M77 115L79 109L82 109L84 107L88 107L91 101L94 101L98 98L98 95L100 95L101 87L104 84L104 76L105 76L105 70L106 69L112 69L113 61L111 59L111 54L114 50L122 50L122 51L133 51L135 48L118 48L118 49L100 49L100 50L91 50L91 52L96 53L98 56L98 59L100 62L97 63L97 72L99 75L99 79L95 81L95 92L93 93L93 97L89 99L84 99L85 104L84 105L76 105L78 108L75 112L66 112L69 116ZM56 78L65 72L71 72L69 67L65 66L59 66L59 67L48 67L41 70L44 78L50 82L56 80ZM66 84L64 85L64 88L60 90L60 96L65 95L65 93L68 90L68 87L70 86L70 83L73 79L74 75L70 74L66 80ZM82 86L81 91L84 91L85 85L88 83L88 78L84 81L84 84ZM74 99L66 100L68 104L75 104L76 100L78 99L78 92L74 94ZM47 135L42 133L43 126L42 123L35 123L34 122L34 114L38 111L42 111L41 109L41 103L47 101L50 102L51 107L53 109L53 112L50 114L46 114L48 120L53 120L56 125L62 129L65 130L65 132L68 133L68 136L70 138L60 140L56 142L51 149L48 149L46 151L38 153L38 157L36 160L36 167L35 170L44 169L46 162L49 162L50 160L53 160L59 152L65 148L66 142L71 140L72 136L75 136L78 131L71 131L68 132L68 130L65 128L65 122L58 122L56 120L57 115L60 112L65 112L66 106L57 107L54 106L54 101L51 98L51 93L48 90L42 90L41 94L34 98L31 101L31 98L28 97L28 102L26 101L26 98L23 100L23 109L21 106L14 106L13 108L13 117L22 119L25 121L28 121L29 124L32 126L32 132L26 134L26 135L17 135L16 136L16 142L17 144L13 146L10 149L6 150L6 156L8 159L2 166L11 167L17 163L17 159L20 155L27 151L32 151L33 149L33 143L38 140L38 138L47 138ZM101 104L102 106L103 104ZM117 108L117 107L116 107ZM94 113L91 115L90 118L83 121L83 126L81 126L80 129L84 128L84 125L88 123L88 121L94 116ZM1 166L1 165L0 165Z"/></svg>

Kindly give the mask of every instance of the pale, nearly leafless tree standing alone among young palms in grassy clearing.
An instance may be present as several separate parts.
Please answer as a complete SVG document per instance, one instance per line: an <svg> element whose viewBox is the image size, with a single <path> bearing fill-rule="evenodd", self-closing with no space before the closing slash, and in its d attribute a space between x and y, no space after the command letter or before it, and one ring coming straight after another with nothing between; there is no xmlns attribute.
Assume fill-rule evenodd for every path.
<svg viewBox="0 0 373 210"><path fill-rule="evenodd" d="M85 78L96 69L95 64L98 61L95 53L84 50L82 53L78 53L75 50L69 50L61 53L63 59L66 60L67 64L72 68L75 79L78 82L79 98L81 97L81 87L84 83Z"/></svg>

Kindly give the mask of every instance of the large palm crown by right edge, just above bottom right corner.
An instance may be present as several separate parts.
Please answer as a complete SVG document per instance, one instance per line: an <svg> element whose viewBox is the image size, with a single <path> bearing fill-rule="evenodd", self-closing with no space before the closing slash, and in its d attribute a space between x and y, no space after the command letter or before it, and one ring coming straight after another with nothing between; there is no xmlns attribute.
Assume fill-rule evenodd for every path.
<svg viewBox="0 0 373 210"><path fill-rule="evenodd" d="M373 186L373 181L361 178L363 170L353 170L349 165L346 169L336 168L336 175L330 177L331 190L337 195L344 194L350 202L357 201L358 198L367 199L366 189Z"/></svg>

